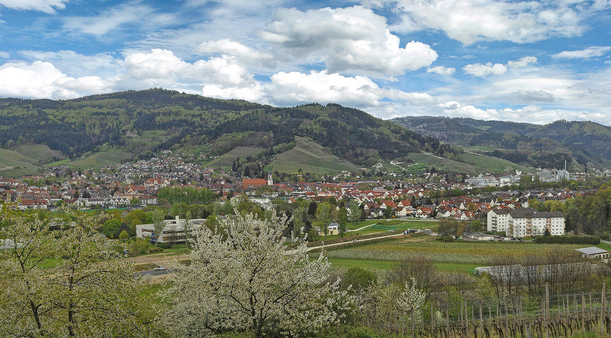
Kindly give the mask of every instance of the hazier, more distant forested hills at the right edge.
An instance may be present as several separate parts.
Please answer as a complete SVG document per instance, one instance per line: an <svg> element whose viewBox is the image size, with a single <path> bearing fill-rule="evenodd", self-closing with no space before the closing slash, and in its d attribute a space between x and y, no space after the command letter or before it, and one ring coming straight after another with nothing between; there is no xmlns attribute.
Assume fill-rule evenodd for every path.
<svg viewBox="0 0 611 338"><path fill-rule="evenodd" d="M534 125L434 116L398 117L390 121L514 163L560 169L567 160L576 166L574 169L584 169L585 163L609 166L611 160L611 127L593 122L558 120Z"/></svg>

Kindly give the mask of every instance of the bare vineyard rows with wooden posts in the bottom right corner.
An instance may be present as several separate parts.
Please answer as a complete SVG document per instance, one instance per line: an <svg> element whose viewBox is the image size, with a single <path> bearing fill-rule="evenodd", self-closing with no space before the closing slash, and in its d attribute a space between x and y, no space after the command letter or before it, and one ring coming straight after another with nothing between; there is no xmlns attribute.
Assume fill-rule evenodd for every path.
<svg viewBox="0 0 611 338"><path fill-rule="evenodd" d="M345 323L414 338L558 338L578 332L611 334L611 296L606 283L599 292L551 295L549 284L539 296L428 303L419 309L394 311L357 306ZM370 297L375 298L375 293ZM382 300L383 301L383 300Z"/></svg>

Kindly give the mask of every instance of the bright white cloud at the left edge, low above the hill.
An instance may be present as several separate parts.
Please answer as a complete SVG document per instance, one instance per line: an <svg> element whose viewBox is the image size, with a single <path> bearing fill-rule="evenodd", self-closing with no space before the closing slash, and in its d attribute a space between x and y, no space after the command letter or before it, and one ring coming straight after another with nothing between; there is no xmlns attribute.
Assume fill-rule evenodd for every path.
<svg viewBox="0 0 611 338"><path fill-rule="evenodd" d="M73 98L103 92L108 87L98 76L66 76L49 62L0 66L0 97Z"/></svg>

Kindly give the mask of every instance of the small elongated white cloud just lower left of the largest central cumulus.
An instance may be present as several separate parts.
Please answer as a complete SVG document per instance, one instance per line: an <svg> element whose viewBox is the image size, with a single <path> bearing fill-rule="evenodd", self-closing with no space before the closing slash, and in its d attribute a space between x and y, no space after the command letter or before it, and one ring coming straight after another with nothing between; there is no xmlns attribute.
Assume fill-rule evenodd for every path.
<svg viewBox="0 0 611 338"><path fill-rule="evenodd" d="M246 64L262 65L268 68L277 66L276 57L273 54L254 50L249 46L244 46L240 42L231 39L208 41L201 43L197 50L205 54L226 54L235 56Z"/></svg>

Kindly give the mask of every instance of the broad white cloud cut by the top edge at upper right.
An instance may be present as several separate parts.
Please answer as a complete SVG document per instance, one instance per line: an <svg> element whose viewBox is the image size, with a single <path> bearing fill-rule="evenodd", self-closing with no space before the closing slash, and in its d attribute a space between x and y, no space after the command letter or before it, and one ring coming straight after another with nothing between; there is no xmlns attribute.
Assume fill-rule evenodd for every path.
<svg viewBox="0 0 611 338"><path fill-rule="evenodd" d="M399 0L402 21L393 31L439 29L467 45L478 41L536 42L583 34L585 18L609 7L606 1ZM392 2L391 2L392 3ZM571 2L571 5L573 2Z"/></svg>

